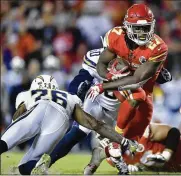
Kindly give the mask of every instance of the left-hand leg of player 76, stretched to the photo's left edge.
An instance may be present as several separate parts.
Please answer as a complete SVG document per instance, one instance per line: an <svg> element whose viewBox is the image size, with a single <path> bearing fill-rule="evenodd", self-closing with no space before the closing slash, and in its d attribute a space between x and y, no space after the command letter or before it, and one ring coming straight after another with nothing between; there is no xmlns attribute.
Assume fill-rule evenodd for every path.
<svg viewBox="0 0 181 176"><path fill-rule="evenodd" d="M25 142L40 132L40 123L45 106L37 105L14 121L1 137L1 153ZM6 147L7 146L7 147Z"/></svg>

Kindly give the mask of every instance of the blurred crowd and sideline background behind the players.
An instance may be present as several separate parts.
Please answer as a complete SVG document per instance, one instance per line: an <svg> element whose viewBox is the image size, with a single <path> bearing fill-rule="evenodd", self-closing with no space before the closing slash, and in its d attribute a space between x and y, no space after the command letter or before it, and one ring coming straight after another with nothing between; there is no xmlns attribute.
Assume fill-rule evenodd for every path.
<svg viewBox="0 0 181 176"><path fill-rule="evenodd" d="M100 36L122 25L128 7L141 2L153 10L156 33L168 44L165 66L173 75L172 82L155 86L153 121L181 130L181 1L1 0L1 132L11 123L17 94L33 78L51 74L66 90L84 54L102 47ZM89 139L73 151L90 151Z"/></svg>

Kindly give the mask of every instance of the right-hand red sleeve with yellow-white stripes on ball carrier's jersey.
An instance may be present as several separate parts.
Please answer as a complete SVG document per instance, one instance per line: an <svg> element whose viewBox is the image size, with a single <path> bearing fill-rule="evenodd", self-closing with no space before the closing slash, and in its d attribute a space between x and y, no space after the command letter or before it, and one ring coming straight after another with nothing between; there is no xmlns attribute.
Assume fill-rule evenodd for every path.
<svg viewBox="0 0 181 176"><path fill-rule="evenodd" d="M151 62L164 62L166 60L167 54L167 45L165 43L160 43L154 48L148 60Z"/></svg>

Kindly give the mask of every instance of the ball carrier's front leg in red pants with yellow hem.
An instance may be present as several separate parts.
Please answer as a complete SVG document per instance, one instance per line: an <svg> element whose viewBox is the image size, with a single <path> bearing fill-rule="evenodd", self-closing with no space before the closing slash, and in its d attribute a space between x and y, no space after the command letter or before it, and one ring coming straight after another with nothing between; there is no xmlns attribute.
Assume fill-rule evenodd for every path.
<svg viewBox="0 0 181 176"><path fill-rule="evenodd" d="M118 112L116 130L119 133L123 133L128 123L134 118L137 107L146 98L145 91L142 88L132 92L130 90L122 91L121 94L125 96L126 100L121 103Z"/></svg>

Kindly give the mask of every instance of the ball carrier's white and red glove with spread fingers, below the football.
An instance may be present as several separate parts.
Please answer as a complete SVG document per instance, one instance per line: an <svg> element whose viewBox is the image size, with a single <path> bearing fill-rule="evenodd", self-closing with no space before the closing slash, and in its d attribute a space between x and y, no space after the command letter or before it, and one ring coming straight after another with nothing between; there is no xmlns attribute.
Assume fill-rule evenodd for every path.
<svg viewBox="0 0 181 176"><path fill-rule="evenodd" d="M86 98L91 99L92 102L96 99L96 97L104 91L102 84L96 84L92 86L87 92Z"/></svg>

